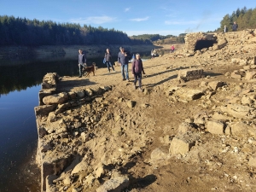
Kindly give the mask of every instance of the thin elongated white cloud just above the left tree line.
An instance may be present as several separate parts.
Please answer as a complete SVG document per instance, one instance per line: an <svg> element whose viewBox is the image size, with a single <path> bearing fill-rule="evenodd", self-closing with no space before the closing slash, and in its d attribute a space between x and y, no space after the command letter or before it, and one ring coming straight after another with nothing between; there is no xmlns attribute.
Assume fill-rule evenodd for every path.
<svg viewBox="0 0 256 192"><path fill-rule="evenodd" d="M115 21L115 17L109 16L96 16L96 17L87 17L87 18L78 18L78 19L71 19L70 22L79 23L79 24L102 24L102 23L109 23Z"/></svg>

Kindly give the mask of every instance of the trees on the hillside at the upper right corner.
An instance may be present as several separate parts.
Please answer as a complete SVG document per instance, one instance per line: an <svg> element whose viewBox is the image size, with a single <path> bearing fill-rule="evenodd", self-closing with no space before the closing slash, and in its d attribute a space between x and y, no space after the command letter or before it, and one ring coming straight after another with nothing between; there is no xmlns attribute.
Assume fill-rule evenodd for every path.
<svg viewBox="0 0 256 192"><path fill-rule="evenodd" d="M244 7L242 9L236 9L236 11L233 11L231 15L224 15L223 20L220 21L220 28L216 31L222 32L224 30L224 26L227 26L228 31L231 32L232 25L235 21L238 25L238 31L247 28L256 28L256 8L247 9Z"/></svg>

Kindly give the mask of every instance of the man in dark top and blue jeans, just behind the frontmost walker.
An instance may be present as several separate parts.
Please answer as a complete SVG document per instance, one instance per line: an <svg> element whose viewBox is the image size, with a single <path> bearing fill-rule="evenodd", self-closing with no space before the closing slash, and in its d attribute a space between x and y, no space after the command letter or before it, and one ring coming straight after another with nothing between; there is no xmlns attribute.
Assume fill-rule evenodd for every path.
<svg viewBox="0 0 256 192"><path fill-rule="evenodd" d="M123 47L120 47L118 62L119 62L119 66L121 67L123 80L125 80L125 76L126 76L126 80L129 81L129 73L128 73L129 56L127 55L127 53L125 52L125 48Z"/></svg>

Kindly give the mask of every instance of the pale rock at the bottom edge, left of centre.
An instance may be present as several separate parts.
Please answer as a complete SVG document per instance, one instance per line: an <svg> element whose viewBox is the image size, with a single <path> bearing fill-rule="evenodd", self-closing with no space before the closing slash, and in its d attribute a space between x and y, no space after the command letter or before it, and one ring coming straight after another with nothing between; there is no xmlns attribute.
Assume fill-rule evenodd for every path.
<svg viewBox="0 0 256 192"><path fill-rule="evenodd" d="M127 176L113 177L103 183L103 185L96 189L96 192L119 192L128 187L129 178Z"/></svg>

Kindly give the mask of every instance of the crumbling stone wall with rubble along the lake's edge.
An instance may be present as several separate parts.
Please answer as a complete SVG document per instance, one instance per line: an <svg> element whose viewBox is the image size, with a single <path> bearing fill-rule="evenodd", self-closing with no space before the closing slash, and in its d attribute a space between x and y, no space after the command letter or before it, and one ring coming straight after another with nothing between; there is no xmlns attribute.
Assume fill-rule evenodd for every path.
<svg viewBox="0 0 256 192"><path fill-rule="evenodd" d="M76 92L58 92L58 80L57 73L47 73L44 76L42 90L39 91L40 105L34 108L38 127L36 160L41 169L42 191L46 190L47 177L60 174L79 155L77 150L71 147L72 144L70 146L63 144L70 143L71 137L82 132L83 130L80 130L82 128L79 128L80 125L76 123L73 116L70 116L72 119L67 120L58 117L58 114L67 111L71 113L73 108L91 103L96 97L100 100L100 96L111 89L110 87L98 87L96 90L87 88L75 90ZM88 107L91 108L90 105ZM94 125L93 122L96 122L96 117L91 116L90 125Z"/></svg>

